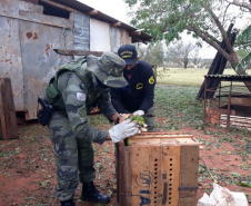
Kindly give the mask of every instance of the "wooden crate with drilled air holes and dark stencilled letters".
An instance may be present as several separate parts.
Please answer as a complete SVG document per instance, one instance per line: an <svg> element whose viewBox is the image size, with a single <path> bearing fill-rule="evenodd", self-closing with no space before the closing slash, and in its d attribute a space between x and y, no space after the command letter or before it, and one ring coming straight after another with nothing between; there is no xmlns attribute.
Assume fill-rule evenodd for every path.
<svg viewBox="0 0 251 206"><path fill-rule="evenodd" d="M117 144L120 206L195 206L200 144L192 135L142 133Z"/></svg>

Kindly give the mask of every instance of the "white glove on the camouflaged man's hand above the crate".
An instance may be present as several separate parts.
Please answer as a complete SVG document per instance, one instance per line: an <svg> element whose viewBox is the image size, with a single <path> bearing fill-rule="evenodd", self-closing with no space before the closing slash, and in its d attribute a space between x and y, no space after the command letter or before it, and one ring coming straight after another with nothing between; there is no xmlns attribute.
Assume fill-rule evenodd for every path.
<svg viewBox="0 0 251 206"><path fill-rule="evenodd" d="M132 121L131 118L124 120L121 124L118 124L110 128L109 135L113 143L119 143L127 137L133 136L139 133L139 126L135 121Z"/></svg>

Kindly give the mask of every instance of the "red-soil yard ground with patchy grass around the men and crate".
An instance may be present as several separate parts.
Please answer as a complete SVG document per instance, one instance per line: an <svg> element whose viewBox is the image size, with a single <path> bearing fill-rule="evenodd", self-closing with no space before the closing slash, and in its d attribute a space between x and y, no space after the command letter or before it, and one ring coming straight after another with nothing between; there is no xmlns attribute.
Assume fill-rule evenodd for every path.
<svg viewBox="0 0 251 206"><path fill-rule="evenodd" d="M179 130L191 134L203 143L200 150L198 198L212 190L212 177L232 192L242 192L250 199L251 189L241 182L251 182L251 133L235 128L221 128L203 124L203 102L195 100L199 87L155 87L157 124L160 130ZM109 129L113 124L102 115L89 116L91 126ZM111 196L110 206L117 205L114 145L93 144L98 188ZM19 126L19 139L0 141L0 202L2 206L56 206L56 165L47 127L37 122ZM99 205L80 199L77 206Z"/></svg>

